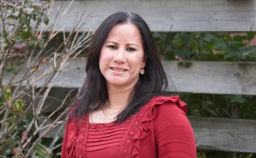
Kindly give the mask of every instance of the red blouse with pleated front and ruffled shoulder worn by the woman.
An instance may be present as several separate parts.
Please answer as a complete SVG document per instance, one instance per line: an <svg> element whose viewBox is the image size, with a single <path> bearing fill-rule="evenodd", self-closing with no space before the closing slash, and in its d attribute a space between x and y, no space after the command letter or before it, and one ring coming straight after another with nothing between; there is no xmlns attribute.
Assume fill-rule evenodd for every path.
<svg viewBox="0 0 256 158"><path fill-rule="evenodd" d="M187 104L178 96L154 97L122 124L66 123L61 157L195 158Z"/></svg>

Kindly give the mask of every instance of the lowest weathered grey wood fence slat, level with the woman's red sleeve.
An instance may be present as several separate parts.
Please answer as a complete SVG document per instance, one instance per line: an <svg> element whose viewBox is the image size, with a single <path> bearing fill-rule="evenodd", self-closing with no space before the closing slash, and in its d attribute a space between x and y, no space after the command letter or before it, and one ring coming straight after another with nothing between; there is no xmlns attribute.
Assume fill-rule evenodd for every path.
<svg viewBox="0 0 256 158"><path fill-rule="evenodd" d="M256 153L256 120L188 118L197 149ZM53 138L56 131L50 132L47 138ZM59 133L59 136L63 135L64 128Z"/></svg>

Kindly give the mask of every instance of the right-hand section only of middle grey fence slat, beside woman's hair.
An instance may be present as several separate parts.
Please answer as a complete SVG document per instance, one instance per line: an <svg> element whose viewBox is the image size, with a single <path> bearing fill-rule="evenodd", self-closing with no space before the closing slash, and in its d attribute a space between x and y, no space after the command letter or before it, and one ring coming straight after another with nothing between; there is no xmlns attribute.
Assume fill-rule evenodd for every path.
<svg viewBox="0 0 256 158"><path fill-rule="evenodd" d="M163 65L170 76L170 91L176 87L181 92L256 95L256 63L166 61Z"/></svg>

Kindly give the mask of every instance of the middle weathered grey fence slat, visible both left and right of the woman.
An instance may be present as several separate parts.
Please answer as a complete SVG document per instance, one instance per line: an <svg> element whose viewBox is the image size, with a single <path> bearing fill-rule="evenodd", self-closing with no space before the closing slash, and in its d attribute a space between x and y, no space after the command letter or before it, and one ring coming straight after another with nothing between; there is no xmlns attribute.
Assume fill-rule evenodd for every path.
<svg viewBox="0 0 256 158"><path fill-rule="evenodd" d="M85 76L85 61L71 61L66 71L57 77L54 87L79 88ZM256 63L218 61L164 61L164 69L169 77L168 91L210 94L256 95ZM47 67L53 66L49 64ZM45 72L45 69L40 72ZM22 72L16 81L21 79ZM35 75L36 76L36 75ZM5 74L3 83L11 78ZM36 78L36 77L35 77ZM42 86L45 78L35 85ZM25 85L24 83L23 85Z"/></svg>

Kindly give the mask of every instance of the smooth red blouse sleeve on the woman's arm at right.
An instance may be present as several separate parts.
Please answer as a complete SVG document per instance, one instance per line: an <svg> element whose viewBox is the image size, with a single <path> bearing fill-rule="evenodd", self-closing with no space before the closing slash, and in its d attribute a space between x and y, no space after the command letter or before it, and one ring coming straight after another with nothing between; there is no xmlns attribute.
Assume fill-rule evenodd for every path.
<svg viewBox="0 0 256 158"><path fill-rule="evenodd" d="M186 112L177 102L158 106L156 141L158 158L196 158L195 138Z"/></svg>

